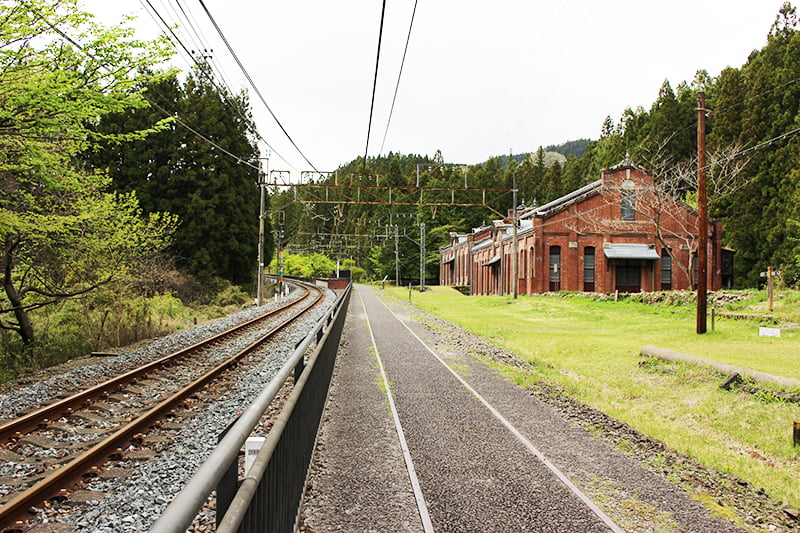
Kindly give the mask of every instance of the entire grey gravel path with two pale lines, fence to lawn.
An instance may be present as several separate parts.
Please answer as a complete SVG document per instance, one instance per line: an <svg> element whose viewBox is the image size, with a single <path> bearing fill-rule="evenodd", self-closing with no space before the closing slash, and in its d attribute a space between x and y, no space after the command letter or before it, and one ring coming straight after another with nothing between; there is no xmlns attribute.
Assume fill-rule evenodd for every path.
<svg viewBox="0 0 800 533"><path fill-rule="evenodd" d="M358 287L351 299L333 386L335 396L323 424L323 446L318 450L304 509L307 530L422 530L418 515L415 524L408 521L407 499L395 523L386 526L393 510L386 488L400 487L395 492L399 490L404 497L410 488L407 473L387 466L396 465L402 456L396 445L386 442L391 438L386 433L391 427L390 414L376 379L371 343L364 337L363 298L436 531L608 531L405 330L376 293L380 291ZM502 378L484 359L472 355L483 347L487 349L477 351L489 351L494 360L524 366L512 354L479 346L471 335L401 302L388 305L621 529L742 531L712 516L663 476L584 431L557 407ZM360 361L357 368L355 360ZM374 403L379 403L377 409ZM381 428L379 434L376 427ZM365 441L380 441L381 445L367 447ZM371 500L370 506L359 503ZM381 525L373 520L376 510L382 513ZM764 529L770 530L781 529Z"/></svg>

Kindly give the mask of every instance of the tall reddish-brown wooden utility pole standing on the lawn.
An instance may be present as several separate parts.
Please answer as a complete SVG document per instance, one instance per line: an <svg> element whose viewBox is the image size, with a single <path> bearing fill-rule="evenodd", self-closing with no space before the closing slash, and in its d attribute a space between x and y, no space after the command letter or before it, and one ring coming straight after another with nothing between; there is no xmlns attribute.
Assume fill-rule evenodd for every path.
<svg viewBox="0 0 800 533"><path fill-rule="evenodd" d="M708 300L708 198L706 196L706 96L697 95L697 333L706 332Z"/></svg>

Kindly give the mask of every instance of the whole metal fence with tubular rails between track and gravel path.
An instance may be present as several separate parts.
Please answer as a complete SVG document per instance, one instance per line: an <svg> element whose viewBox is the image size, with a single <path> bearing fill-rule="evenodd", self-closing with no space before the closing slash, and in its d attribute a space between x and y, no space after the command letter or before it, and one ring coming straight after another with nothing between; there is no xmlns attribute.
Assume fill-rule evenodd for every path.
<svg viewBox="0 0 800 533"><path fill-rule="evenodd" d="M186 531L217 488L218 532L293 531L350 299L348 286L280 371L221 438L151 533ZM315 344L308 360L305 354ZM295 385L245 478L232 482L245 440L295 370ZM221 480L227 479L227 482ZM238 485L238 490L236 489ZM227 488L226 488L227 487ZM230 491L236 490L231 497ZM229 503L228 503L229 502ZM220 504L222 507L220 508Z"/></svg>

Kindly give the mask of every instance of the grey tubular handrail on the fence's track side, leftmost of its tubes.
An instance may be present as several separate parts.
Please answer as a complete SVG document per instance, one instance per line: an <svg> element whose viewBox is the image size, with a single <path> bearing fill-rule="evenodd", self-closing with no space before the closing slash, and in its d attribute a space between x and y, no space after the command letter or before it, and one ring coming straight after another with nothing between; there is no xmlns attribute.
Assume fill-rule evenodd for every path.
<svg viewBox="0 0 800 533"><path fill-rule="evenodd" d="M334 302L332 308L321 317L306 337L297 345L292 355L283 364L278 373L270 380L255 400L241 414L239 419L228 429L205 462L200 465L183 489L175 496L161 516L150 528L150 533L181 533L191 526L208 496L216 488L217 483L226 473L229 465L237 460L239 450L247 437L259 423L272 400L277 396L283 384L289 379L292 371L300 365L312 343L318 341L325 328L342 310L347 301L349 285Z"/></svg>

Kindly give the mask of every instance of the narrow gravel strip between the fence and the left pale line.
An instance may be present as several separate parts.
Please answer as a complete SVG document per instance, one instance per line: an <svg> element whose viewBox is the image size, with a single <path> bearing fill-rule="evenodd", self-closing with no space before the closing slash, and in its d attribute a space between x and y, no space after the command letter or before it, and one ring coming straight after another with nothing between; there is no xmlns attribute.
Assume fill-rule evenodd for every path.
<svg viewBox="0 0 800 533"><path fill-rule="evenodd" d="M386 393L378 385L365 318L355 293L317 439L318 449L329 448L331 453L324 453L312 466L309 498L314 504L307 506L304 517L308 532L421 531L397 433L387 416ZM334 510L336 528L317 510Z"/></svg>

